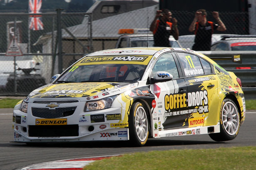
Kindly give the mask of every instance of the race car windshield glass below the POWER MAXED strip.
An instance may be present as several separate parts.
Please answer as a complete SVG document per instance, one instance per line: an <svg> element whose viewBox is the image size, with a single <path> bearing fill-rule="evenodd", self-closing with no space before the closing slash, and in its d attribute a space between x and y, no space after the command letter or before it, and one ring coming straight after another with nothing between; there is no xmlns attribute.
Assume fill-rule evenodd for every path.
<svg viewBox="0 0 256 170"><path fill-rule="evenodd" d="M95 64L74 66L57 83L70 82L135 82L141 80L146 65Z"/></svg>

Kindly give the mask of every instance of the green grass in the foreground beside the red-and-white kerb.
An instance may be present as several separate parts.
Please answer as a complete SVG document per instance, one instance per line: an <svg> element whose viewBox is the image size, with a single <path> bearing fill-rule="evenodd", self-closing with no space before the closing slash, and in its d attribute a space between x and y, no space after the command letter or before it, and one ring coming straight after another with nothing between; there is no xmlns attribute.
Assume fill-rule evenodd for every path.
<svg viewBox="0 0 256 170"><path fill-rule="evenodd" d="M254 170L256 147L182 149L124 154L98 160L84 170Z"/></svg>

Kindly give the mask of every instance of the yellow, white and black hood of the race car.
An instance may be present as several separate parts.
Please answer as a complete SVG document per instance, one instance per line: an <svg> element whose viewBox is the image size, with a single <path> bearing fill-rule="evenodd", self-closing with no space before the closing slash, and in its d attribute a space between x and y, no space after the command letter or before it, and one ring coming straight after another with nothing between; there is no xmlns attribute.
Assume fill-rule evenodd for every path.
<svg viewBox="0 0 256 170"><path fill-rule="evenodd" d="M107 95L117 95L125 90L136 87L136 83L60 83L47 84L29 94L30 98L63 98L63 97L91 97L90 99L100 99ZM87 100L89 100L89 98Z"/></svg>

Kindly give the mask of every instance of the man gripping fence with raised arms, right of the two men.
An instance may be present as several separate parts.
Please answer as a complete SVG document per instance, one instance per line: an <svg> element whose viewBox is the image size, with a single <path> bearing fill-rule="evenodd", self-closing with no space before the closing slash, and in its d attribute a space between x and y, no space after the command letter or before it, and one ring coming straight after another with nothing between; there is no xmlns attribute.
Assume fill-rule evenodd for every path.
<svg viewBox="0 0 256 170"><path fill-rule="evenodd" d="M189 26L189 32L194 32L195 40L192 50L194 51L210 51L211 50L211 35L214 30L226 31L226 26L219 18L219 12L212 13L218 24L207 21L206 10L197 10L193 22Z"/></svg>

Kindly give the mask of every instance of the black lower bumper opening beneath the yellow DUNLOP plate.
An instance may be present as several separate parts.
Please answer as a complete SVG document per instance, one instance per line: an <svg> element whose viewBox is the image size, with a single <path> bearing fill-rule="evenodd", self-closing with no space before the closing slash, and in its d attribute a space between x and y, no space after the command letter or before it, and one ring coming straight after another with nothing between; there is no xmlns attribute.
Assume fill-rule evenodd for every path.
<svg viewBox="0 0 256 170"><path fill-rule="evenodd" d="M78 136L77 124L71 125L30 125L28 126L28 135L30 137L61 137Z"/></svg>

